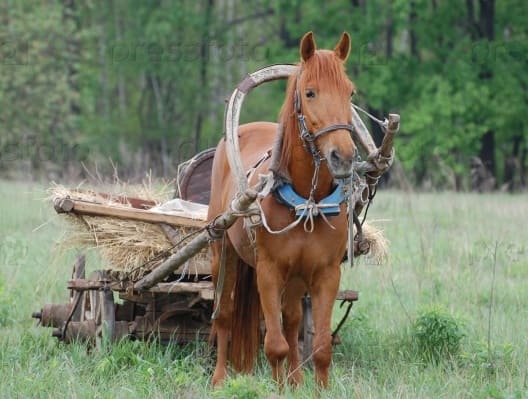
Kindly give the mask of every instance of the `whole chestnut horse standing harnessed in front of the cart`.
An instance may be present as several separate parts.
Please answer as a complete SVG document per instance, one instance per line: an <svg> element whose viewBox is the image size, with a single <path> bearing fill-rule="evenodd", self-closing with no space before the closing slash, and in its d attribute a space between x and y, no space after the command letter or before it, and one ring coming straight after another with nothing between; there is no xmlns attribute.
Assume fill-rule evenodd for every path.
<svg viewBox="0 0 528 399"><path fill-rule="evenodd" d="M272 147L280 148L280 153L273 154L277 159L275 175L315 203L333 192L336 179L350 176L356 147L350 134L354 85L344 67L349 52L346 32L334 50L317 50L313 34L304 35L301 62L298 73L289 79L280 124L240 126L242 163L246 170L258 164L252 180L270 170L270 160L259 160ZM279 126L283 129L282 145L274 146ZM209 220L229 208L236 190L222 140L213 162ZM257 227L254 241L239 218L223 240L212 244L213 282L216 287L220 284L217 289L222 293L216 298L218 313L213 321L217 340L213 386L226 377L228 359L235 371L252 370L260 345L261 311L266 326L264 352L273 378L283 384L287 359L288 382L302 383L298 332L301 300L308 293L315 327L315 377L326 387L332 357L330 322L348 236L346 205L340 204L337 215L313 217L311 229L299 223L284 234L271 234L270 230L291 224L296 220L295 211L273 194L264 197L260 205L268 229Z"/></svg>

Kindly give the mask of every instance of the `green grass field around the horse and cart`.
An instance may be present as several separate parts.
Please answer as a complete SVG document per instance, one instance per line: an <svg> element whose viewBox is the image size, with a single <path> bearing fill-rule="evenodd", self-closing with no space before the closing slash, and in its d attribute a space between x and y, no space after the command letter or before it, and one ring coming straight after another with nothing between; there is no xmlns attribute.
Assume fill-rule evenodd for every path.
<svg viewBox="0 0 528 399"><path fill-rule="evenodd" d="M213 359L200 342L127 341L101 351L58 343L30 317L66 299L74 256L55 251L62 225L44 196L42 187L0 181L2 397L316 397L309 370L302 388L279 393L264 360L213 392ZM528 197L380 190L369 220L389 238L390 259L344 269L342 287L360 300L321 397L528 398ZM434 359L415 323L426 309L461 338ZM336 320L342 312L336 307ZM427 343L441 326L426 321L434 332Z"/></svg>

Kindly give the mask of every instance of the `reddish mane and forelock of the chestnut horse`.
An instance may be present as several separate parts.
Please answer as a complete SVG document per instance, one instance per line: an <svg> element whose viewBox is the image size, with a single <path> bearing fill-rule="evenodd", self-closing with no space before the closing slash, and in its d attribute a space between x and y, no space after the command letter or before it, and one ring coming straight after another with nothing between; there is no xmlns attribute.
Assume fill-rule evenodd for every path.
<svg viewBox="0 0 528 399"><path fill-rule="evenodd" d="M344 63L331 50L317 50L308 61L301 61L299 67L302 68L302 83L317 82L318 87L350 91L351 82L346 75ZM288 79L286 97L279 113L279 126L282 129L279 135L282 137L277 139L281 143L275 145L275 149L280 151L280 157L275 160L277 164L275 172L286 179L289 178L287 166L291 158L291 149L299 135L294 108L297 75L296 73Z"/></svg>

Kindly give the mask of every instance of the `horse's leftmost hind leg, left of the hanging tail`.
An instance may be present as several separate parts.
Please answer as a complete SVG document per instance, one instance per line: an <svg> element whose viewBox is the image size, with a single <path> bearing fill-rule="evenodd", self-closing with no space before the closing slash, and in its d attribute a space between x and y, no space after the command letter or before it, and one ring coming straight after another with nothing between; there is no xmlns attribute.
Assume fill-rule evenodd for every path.
<svg viewBox="0 0 528 399"><path fill-rule="evenodd" d="M226 240L227 241L227 240ZM216 333L216 367L213 374L213 387L222 384L227 376L227 358L229 347L229 333L231 329L231 318L233 316L233 300L231 292L235 284L236 264L238 257L230 243L225 244L225 262L222 262L222 241L215 241L211 244L211 269L213 273L213 283L215 288L218 284L223 284L222 293L219 298L215 298L214 309L217 311L213 320L213 331ZM224 268L223 277L219 276L221 268ZM221 281L223 279L223 282Z"/></svg>

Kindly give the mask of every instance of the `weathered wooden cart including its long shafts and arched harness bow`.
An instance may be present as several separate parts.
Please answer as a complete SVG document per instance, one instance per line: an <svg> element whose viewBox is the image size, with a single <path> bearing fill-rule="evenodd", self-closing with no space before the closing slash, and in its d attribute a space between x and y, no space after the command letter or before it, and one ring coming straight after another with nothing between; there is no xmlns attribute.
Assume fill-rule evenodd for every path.
<svg viewBox="0 0 528 399"><path fill-rule="evenodd" d="M263 182L248 187L245 171L237 158L238 116L244 96L261 83L287 78L295 72L292 65L274 65L248 75L233 92L226 109L226 140L228 160L239 185L239 192L233 200L233 209L226 211L207 224L200 220L181 216L159 215L148 212L154 205L150 201L137 198L122 198L130 207L105 206L100 203L77 201L72 198L58 198L55 209L59 213L98 215L129 220L140 220L160 224L169 239L174 239L171 230L174 226L188 226L202 229L176 253L171 254L150 273L139 281L120 280L105 271L85 276L85 257L80 255L73 267L72 278L67 284L69 300L64 304L47 304L33 317L45 327L52 327L53 335L71 342L72 340L118 340L123 337L146 339L159 337L162 341L173 340L186 343L196 339L206 339L211 327L211 314L214 302L214 289L207 259L199 260L195 255L207 247L211 240L219 239L216 232L228 229L240 211L247 210L262 189ZM365 184L375 187L377 178L385 171L392 160L392 142L399 128L399 116L389 115L386 136L380 148L376 148L370 134L352 107L353 125L357 142L367 155L367 161L358 163ZM214 150L206 150L193 158L178 177L177 194L183 199L208 204L210 175ZM356 243L354 242L354 245ZM194 262L198 272L191 276L183 273L182 264ZM116 301L117 299L117 301ZM358 299L355 291L339 293L338 300L350 306ZM313 325L309 298L303 301L304 323L301 337L304 339L304 355L311 349ZM339 326L342 323L339 323ZM339 328L339 327L338 327ZM334 335L335 341L338 337Z"/></svg>

